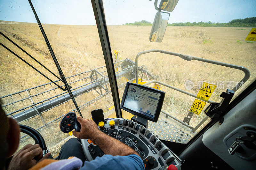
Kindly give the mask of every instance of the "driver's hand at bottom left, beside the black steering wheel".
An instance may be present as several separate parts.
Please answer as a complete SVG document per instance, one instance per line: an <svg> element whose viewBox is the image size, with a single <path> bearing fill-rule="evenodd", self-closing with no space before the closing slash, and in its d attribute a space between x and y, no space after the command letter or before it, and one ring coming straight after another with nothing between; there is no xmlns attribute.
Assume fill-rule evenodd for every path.
<svg viewBox="0 0 256 170"><path fill-rule="evenodd" d="M19 169L29 169L36 165L36 159L47 159L51 153L47 153L43 158L43 151L39 144L27 144L19 152L17 152L13 157L8 166L8 170L19 170Z"/></svg>

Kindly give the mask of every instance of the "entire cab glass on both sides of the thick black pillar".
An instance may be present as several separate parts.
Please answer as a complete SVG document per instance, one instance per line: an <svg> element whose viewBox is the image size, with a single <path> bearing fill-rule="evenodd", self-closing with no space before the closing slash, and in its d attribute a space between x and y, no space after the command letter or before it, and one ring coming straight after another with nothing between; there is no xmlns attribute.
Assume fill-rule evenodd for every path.
<svg viewBox="0 0 256 170"><path fill-rule="evenodd" d="M91 111L98 108L103 109L104 118L116 117L91 2L32 3L60 67L72 86L83 117L91 118ZM1 1L0 4L0 31L59 77L28 1ZM180 0L169 12L164 38L158 43L149 41L157 12L154 1L103 0L103 4L120 100L126 82L136 82L136 75L137 83L166 92L158 122L148 122L148 129L160 139L188 143L211 121L204 114L204 109L211 102L220 102L221 92L232 90L245 73L201 59L188 61L183 56L153 50L138 57L136 74L135 58L138 53L159 49L242 66L249 70L250 76L237 87L233 99L256 77L256 43L244 41L255 27L254 1ZM6 38L1 36L0 42L64 87L56 76ZM0 96L6 114L20 124L37 129L52 155L58 155L61 144L72 137L72 134L64 134L59 128L62 115L69 111L76 112L72 100L68 98L67 91L62 91L6 48L0 48ZM199 99L195 98L205 83L215 88L211 95L201 94L207 100L204 100L205 104L202 98L199 100L202 102L200 113L192 112ZM122 115L126 119L133 116L124 110ZM31 143L31 139L21 134L20 148L27 143Z"/></svg>

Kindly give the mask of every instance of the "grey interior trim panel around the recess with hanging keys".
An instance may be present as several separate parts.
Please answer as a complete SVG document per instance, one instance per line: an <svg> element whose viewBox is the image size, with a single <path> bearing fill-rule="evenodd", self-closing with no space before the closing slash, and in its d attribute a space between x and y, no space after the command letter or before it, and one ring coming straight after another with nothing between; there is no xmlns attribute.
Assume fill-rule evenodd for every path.
<svg viewBox="0 0 256 170"><path fill-rule="evenodd" d="M245 160L236 154L230 155L223 139L234 129L241 125L256 125L256 90L246 96L240 103L232 108L225 116L224 122L215 123L203 135L203 143L212 152L227 162L234 169L255 169L255 160ZM255 151L256 152L256 151ZM184 159L181 157L181 159Z"/></svg>

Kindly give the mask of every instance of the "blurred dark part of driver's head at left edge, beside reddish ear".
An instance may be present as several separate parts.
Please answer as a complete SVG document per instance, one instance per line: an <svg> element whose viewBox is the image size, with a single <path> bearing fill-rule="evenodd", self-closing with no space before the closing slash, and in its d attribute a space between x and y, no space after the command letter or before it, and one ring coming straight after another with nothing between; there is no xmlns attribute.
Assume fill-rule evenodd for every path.
<svg viewBox="0 0 256 170"><path fill-rule="evenodd" d="M4 140L6 139L7 136L7 132L9 130L9 122L7 119L6 114L4 113L4 110L2 109L2 106L0 105L0 131L1 131L1 135L0 135L0 144L2 144L4 142Z"/></svg>

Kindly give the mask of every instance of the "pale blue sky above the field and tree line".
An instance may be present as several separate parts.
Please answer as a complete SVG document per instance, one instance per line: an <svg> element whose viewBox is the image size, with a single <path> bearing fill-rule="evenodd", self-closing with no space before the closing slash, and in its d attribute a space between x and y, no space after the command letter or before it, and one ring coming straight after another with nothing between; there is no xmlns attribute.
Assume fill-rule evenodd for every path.
<svg viewBox="0 0 256 170"><path fill-rule="evenodd" d="M41 23L96 25L90 0L32 0L32 3ZM141 20L153 23L157 12L154 0L103 0L103 4L107 25ZM236 18L256 17L255 6L255 0L179 0L168 23L227 23ZM0 0L0 20L36 23L27 0Z"/></svg>

